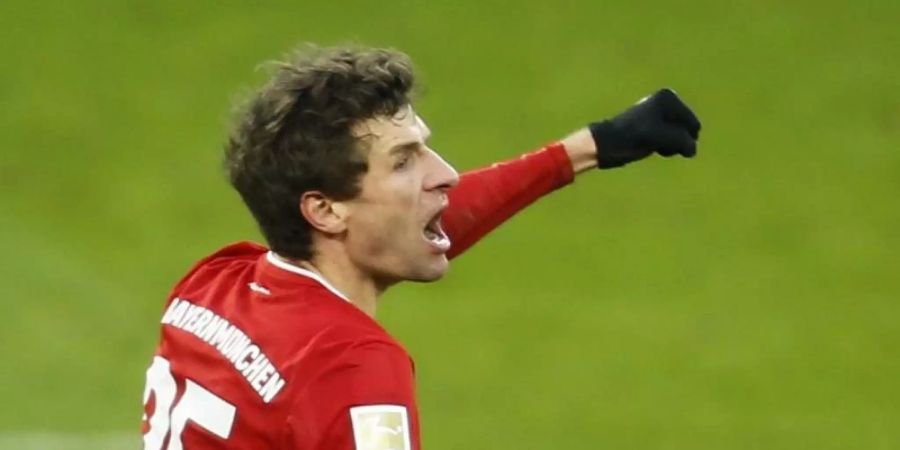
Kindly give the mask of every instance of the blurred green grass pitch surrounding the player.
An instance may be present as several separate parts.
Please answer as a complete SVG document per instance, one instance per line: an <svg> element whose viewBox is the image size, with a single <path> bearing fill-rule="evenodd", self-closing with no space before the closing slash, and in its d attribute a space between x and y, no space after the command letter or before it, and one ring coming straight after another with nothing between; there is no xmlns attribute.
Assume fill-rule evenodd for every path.
<svg viewBox="0 0 900 450"><path fill-rule="evenodd" d="M257 66L393 46L459 169L662 86L692 161L587 174L380 320L426 449L900 448L900 3L0 2L0 448L139 448L172 284L259 233ZM891 425L894 424L894 425Z"/></svg>

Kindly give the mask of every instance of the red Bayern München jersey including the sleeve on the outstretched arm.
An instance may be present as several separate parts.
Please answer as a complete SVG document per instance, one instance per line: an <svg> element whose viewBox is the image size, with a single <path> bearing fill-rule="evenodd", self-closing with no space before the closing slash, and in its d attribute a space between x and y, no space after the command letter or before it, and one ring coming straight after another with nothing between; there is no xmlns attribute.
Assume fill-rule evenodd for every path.
<svg viewBox="0 0 900 450"><path fill-rule="evenodd" d="M468 172L449 193L455 257L573 178L559 145ZM317 274L234 244L172 290L144 389L144 448L420 449L414 367Z"/></svg>

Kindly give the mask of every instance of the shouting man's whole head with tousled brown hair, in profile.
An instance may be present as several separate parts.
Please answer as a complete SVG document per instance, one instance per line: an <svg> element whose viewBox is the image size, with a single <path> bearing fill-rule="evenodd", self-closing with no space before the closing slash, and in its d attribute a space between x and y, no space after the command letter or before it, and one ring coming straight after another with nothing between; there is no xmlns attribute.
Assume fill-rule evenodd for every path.
<svg viewBox="0 0 900 450"><path fill-rule="evenodd" d="M458 176L428 147L413 86L394 50L311 48L278 63L225 155L272 250L342 258L382 285L444 274L439 215Z"/></svg>

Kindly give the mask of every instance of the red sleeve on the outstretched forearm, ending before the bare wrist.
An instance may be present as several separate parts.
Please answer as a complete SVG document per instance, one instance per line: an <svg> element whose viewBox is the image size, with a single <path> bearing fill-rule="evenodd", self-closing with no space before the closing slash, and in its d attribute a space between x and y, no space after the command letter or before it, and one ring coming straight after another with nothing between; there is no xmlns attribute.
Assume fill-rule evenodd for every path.
<svg viewBox="0 0 900 450"><path fill-rule="evenodd" d="M574 179L561 143L462 174L442 225L454 258L526 206Z"/></svg>

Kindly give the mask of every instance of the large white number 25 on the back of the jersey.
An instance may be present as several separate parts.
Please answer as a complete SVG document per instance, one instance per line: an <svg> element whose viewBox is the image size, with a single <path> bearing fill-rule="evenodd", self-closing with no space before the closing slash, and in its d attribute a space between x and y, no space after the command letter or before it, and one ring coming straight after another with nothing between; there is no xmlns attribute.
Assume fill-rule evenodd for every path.
<svg viewBox="0 0 900 450"><path fill-rule="evenodd" d="M172 376L169 361L159 356L153 358L153 364L147 369L145 405L151 392L156 395L156 408L148 421L150 430L144 434L144 450L163 450L166 434L170 431L166 450L183 450L181 432L188 420L222 439L227 439L231 434L234 406L191 380L185 380L184 394L172 407L175 377Z"/></svg>

